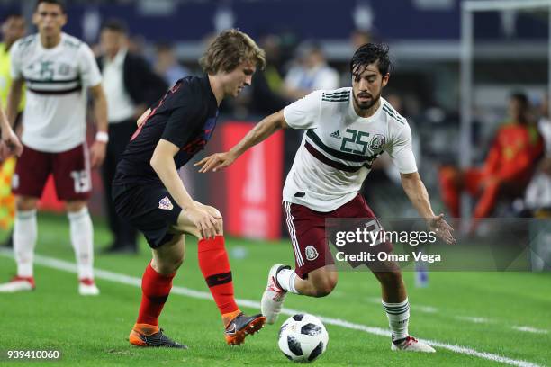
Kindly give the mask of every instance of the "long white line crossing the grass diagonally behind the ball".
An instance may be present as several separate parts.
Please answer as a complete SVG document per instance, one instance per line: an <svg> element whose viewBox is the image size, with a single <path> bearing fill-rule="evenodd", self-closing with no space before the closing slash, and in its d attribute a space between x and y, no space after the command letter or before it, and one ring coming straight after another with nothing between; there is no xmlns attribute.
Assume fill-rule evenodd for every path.
<svg viewBox="0 0 551 367"><path fill-rule="evenodd" d="M0 249L0 255L5 257L12 257L13 253L11 250L5 250ZM34 264L39 264L42 266L46 266L52 269L61 270L68 273L77 273L77 266L73 263L68 263L64 260L59 260L53 257L48 256L42 256L42 255L35 255L34 256ZM113 273L108 270L102 270L102 269L94 269L95 272L95 279L103 279L104 281L110 281L110 282L118 282L122 284L131 285L134 287L140 287L141 286L141 279L136 278L133 276L125 275L122 273ZM202 299L202 300L212 300L211 293L205 292L205 291L194 291L189 288L185 287L178 287L174 286L172 287L172 291L170 291L171 294L179 294L185 297L192 297L196 299ZM239 305L246 306L251 309L258 309L259 308L259 301L257 300L236 300ZM306 313L306 311L298 310L298 309L283 309L282 313L285 315L292 316L297 313ZM352 322L348 322L346 320L342 320L339 318L327 318L323 317L321 315L316 315L318 318L321 319L322 322L329 325L334 325L338 327L345 327L352 330L358 330L363 331L368 334L373 334L375 336L385 336L390 337L390 332L387 329L383 329L381 327L367 327L365 325L361 324L355 324ZM456 352L458 354L467 354L472 355L474 357L482 358L485 360L489 360L492 362L497 363L505 363L510 364L512 366L518 366L518 367L541 367L539 364L531 363L528 361L523 360L515 360L509 357L505 357L499 354L491 354L486 352L478 352L472 348L468 348L465 346L460 345L449 345L447 343L441 343L436 340L428 340L428 339L420 339L424 343L427 343L432 346L437 346L443 349L447 349L452 352Z"/></svg>

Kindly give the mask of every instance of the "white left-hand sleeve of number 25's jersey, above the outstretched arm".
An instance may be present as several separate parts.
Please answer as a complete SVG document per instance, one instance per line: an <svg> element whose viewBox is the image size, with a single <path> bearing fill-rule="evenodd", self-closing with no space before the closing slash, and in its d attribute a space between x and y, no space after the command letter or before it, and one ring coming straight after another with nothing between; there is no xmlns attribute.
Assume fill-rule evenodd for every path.
<svg viewBox="0 0 551 367"><path fill-rule="evenodd" d="M318 122L322 91L314 91L284 108L287 125L293 129L312 129Z"/></svg>

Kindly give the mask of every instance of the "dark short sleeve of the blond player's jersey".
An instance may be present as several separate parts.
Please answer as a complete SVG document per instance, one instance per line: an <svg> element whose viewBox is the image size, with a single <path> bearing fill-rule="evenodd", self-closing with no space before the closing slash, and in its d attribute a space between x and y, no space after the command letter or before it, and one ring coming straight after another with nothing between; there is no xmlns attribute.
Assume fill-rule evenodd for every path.
<svg viewBox="0 0 551 367"><path fill-rule="evenodd" d="M185 144L203 128L205 122L198 104L184 103L176 107L168 117L167 126L161 138L170 141L178 148L184 148Z"/></svg>

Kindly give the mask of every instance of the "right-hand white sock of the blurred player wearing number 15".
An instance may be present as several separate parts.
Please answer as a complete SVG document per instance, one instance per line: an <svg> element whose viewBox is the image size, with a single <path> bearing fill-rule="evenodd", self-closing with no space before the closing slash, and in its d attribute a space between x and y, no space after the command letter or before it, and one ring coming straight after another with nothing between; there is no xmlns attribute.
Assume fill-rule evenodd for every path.
<svg viewBox="0 0 551 367"><path fill-rule="evenodd" d="M71 244L77 258L78 279L94 279L94 232L88 208L68 212Z"/></svg>

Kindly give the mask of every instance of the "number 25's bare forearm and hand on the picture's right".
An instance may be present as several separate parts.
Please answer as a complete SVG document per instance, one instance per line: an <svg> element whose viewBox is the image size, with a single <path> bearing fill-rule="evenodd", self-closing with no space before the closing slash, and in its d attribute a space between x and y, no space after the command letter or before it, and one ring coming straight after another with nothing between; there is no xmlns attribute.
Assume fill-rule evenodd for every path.
<svg viewBox="0 0 551 367"><path fill-rule="evenodd" d="M411 174L400 174L402 179L403 191L406 192L411 203L419 212L420 216L427 220L427 226L434 231L437 237L441 238L447 244L456 242L451 228L447 221L444 220L444 214L435 215L430 207L429 192L425 184L421 181L420 175L417 172Z"/></svg>

